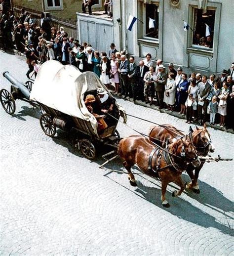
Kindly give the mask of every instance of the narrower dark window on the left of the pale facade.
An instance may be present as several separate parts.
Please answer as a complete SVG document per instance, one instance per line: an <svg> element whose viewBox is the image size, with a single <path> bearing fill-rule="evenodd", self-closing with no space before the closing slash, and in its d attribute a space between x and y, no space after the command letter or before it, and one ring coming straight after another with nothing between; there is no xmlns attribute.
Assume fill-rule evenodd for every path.
<svg viewBox="0 0 234 256"><path fill-rule="evenodd" d="M145 4L144 37L158 39L159 6Z"/></svg>

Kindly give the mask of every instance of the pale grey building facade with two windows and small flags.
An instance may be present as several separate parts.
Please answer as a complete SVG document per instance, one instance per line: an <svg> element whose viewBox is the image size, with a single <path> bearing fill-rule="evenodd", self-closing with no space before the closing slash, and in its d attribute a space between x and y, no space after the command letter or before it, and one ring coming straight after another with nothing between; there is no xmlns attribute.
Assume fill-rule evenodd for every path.
<svg viewBox="0 0 234 256"><path fill-rule="evenodd" d="M136 57L151 53L185 70L220 73L234 62L233 10L234 0L114 0L115 44ZM140 20L132 31L126 30L129 15Z"/></svg>

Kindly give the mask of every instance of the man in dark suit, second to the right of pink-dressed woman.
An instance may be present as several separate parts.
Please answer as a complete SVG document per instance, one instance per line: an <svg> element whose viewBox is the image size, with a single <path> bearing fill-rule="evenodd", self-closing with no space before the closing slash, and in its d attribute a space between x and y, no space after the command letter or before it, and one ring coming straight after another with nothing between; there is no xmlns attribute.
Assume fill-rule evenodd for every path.
<svg viewBox="0 0 234 256"><path fill-rule="evenodd" d="M133 56L131 56L129 58L129 74L128 76L128 92L129 92L129 97L132 98L133 97L133 101L135 103L136 99L137 99L137 64L135 63L135 58Z"/></svg>

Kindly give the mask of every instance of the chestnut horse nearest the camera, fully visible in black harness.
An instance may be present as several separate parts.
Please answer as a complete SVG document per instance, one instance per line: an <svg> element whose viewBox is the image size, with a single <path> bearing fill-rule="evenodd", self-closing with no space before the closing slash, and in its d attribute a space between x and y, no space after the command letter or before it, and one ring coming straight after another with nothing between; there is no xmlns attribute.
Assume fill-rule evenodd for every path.
<svg viewBox="0 0 234 256"><path fill-rule="evenodd" d="M176 140L162 149L153 144L148 138L132 135L119 142L118 154L124 161L123 166L128 171L128 179L132 186L137 186L131 167L135 164L145 173L161 179L161 200L164 207L169 207L165 193L169 182L177 182L179 191L174 191L172 196L180 196L185 186L181 179L182 172L188 164L194 167L200 165L195 152L192 138Z"/></svg>

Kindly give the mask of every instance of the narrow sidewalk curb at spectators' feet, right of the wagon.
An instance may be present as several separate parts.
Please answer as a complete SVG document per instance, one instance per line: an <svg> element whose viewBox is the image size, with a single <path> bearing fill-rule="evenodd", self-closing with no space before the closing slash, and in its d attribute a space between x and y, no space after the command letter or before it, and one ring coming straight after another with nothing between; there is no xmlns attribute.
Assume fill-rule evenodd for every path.
<svg viewBox="0 0 234 256"><path fill-rule="evenodd" d="M122 99L122 97L119 97L117 94L114 94L114 93L113 93L113 95L114 95L115 97L119 98L119 99ZM130 101L130 102L133 103L133 99L131 99L131 98L127 98L127 99L125 99L125 100L128 100L128 101ZM146 107L146 108L154 109L154 110L156 110L156 111L159 111L160 113L165 113L165 114L168 114L168 115L170 115L170 116L177 117L177 118L179 118L179 119L186 120L185 117L182 117L181 115L179 115L179 114L178 114L177 112L175 112L175 111L173 111L172 113L170 113L170 112L169 112L168 110L166 110L166 109L159 109L157 106L147 104L147 103L145 103L145 102L143 102L143 101L141 101L141 100L136 100L136 101L135 101L135 104L136 104L136 105L143 106L143 107ZM197 126L199 126L197 123L192 123L191 125L197 125ZM220 128L220 127L218 127L217 125L211 126L211 125L209 125L209 124L206 124L206 126L207 126L207 127L214 128L214 129L216 129L216 130L221 130L221 131L225 131L225 132L229 132L229 133L233 133L233 134L234 134L234 129Z"/></svg>

